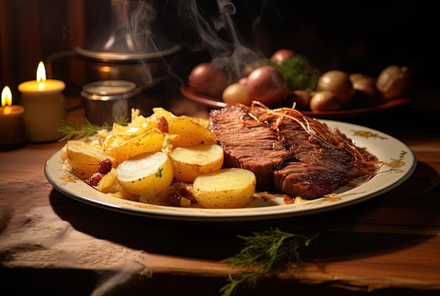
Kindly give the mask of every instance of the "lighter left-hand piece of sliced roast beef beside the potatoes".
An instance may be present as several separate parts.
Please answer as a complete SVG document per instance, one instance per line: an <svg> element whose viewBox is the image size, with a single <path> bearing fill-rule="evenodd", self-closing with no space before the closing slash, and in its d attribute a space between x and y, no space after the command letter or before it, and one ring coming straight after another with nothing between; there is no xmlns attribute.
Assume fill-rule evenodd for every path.
<svg viewBox="0 0 440 296"><path fill-rule="evenodd" d="M294 160L276 134L241 107L209 112L209 130L224 149L224 166L251 170L259 189L273 188L273 172Z"/></svg>

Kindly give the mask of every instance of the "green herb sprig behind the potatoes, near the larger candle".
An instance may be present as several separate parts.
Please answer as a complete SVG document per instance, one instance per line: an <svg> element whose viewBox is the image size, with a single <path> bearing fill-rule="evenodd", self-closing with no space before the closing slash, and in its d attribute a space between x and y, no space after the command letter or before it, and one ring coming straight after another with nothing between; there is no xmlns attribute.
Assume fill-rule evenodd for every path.
<svg viewBox="0 0 440 296"><path fill-rule="evenodd" d="M115 123L126 125L128 123L128 119L125 116L115 117ZM108 130L108 128L109 126L106 122L104 122L102 126L98 126L85 118L84 123L81 126L79 126L75 121L70 121L69 123L63 121L57 130L58 133L63 134L63 137L59 140L59 142L63 142L67 140L80 139L82 137L89 137L98 133L98 130Z"/></svg>

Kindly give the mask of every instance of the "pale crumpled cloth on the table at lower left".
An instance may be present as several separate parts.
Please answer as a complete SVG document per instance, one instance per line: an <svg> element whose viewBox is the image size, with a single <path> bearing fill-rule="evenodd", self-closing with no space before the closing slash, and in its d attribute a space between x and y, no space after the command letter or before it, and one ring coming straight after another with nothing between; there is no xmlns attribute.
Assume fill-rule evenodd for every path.
<svg viewBox="0 0 440 296"><path fill-rule="evenodd" d="M91 295L152 274L145 251L77 231L53 210L44 176L0 182L0 265L6 268L88 269L98 283ZM58 191L57 191L58 192Z"/></svg>

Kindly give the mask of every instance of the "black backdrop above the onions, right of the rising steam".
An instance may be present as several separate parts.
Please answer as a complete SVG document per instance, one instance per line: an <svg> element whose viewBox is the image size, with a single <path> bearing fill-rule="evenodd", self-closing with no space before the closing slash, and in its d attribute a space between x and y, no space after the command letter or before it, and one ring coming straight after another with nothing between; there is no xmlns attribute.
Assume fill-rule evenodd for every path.
<svg viewBox="0 0 440 296"><path fill-rule="evenodd" d="M437 87L439 9L428 1L232 1L243 41L270 56L302 53L319 69L377 75L406 65L417 86ZM216 15L215 1L200 1Z"/></svg>

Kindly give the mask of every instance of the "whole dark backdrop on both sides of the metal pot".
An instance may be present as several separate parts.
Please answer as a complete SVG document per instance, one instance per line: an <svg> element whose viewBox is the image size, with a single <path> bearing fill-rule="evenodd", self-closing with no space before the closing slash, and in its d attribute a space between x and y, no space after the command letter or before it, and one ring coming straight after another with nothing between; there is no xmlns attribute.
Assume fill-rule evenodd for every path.
<svg viewBox="0 0 440 296"><path fill-rule="evenodd" d="M22 81L33 80L39 60L72 50L91 34L107 0L0 0L0 86L13 93ZM222 1L222 3L227 1ZM186 73L209 59L182 7L197 3L208 22L219 17L215 0L153 1L157 22L172 41L183 44L181 64ZM432 1L231 1L231 15L240 42L269 56L278 48L302 53L322 71L341 69L377 75L387 65L406 65L416 88L438 88L439 9ZM80 5L81 4L81 5ZM78 18L73 8L84 12ZM73 15L74 14L74 15ZM73 15L73 16L72 16ZM78 44L69 43L73 20L84 27ZM225 32L219 36L228 38ZM206 48L205 48L206 49Z"/></svg>

